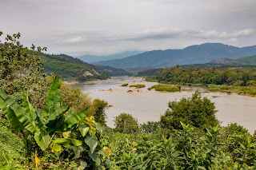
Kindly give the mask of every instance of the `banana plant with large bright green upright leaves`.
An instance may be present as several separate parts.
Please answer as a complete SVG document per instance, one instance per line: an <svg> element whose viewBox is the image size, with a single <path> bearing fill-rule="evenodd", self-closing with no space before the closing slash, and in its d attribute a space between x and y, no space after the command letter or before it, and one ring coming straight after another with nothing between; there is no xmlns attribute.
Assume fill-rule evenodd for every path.
<svg viewBox="0 0 256 170"><path fill-rule="evenodd" d="M60 92L57 90L58 82L59 77L56 76L42 113L32 107L28 92L22 92L22 106L20 106L6 93L0 91L0 109L10 121L12 128L26 136L33 136L42 150L49 148L56 133L72 130L89 113L89 109L84 109L74 114L74 109L70 109L68 105L61 105ZM74 146L82 144L82 141L71 138L66 138L65 141L65 144ZM60 145L55 144L54 149L59 150Z"/></svg>

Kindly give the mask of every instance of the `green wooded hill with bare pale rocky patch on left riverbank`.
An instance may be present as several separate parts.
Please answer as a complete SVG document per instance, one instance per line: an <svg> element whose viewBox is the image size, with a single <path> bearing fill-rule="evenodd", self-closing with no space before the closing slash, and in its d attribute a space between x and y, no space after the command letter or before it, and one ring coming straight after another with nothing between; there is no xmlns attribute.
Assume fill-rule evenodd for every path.
<svg viewBox="0 0 256 170"><path fill-rule="evenodd" d="M107 79L110 76L129 75L124 69L116 69L106 65L90 65L78 58L66 54L50 55L41 53L45 73L54 73L66 81L92 81Z"/></svg>

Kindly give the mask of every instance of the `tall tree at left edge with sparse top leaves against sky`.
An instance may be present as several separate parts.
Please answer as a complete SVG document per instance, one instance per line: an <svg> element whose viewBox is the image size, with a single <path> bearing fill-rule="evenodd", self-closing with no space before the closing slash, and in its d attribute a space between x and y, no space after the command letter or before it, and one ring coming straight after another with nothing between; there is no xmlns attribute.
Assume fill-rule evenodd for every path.
<svg viewBox="0 0 256 170"><path fill-rule="evenodd" d="M30 89L33 83L41 82L40 77L44 76L39 53L46 47L38 46L38 52L29 51L18 42L20 37L20 33L7 35L6 42L0 41L0 89L8 94ZM35 46L32 45L31 49L35 49Z"/></svg>

